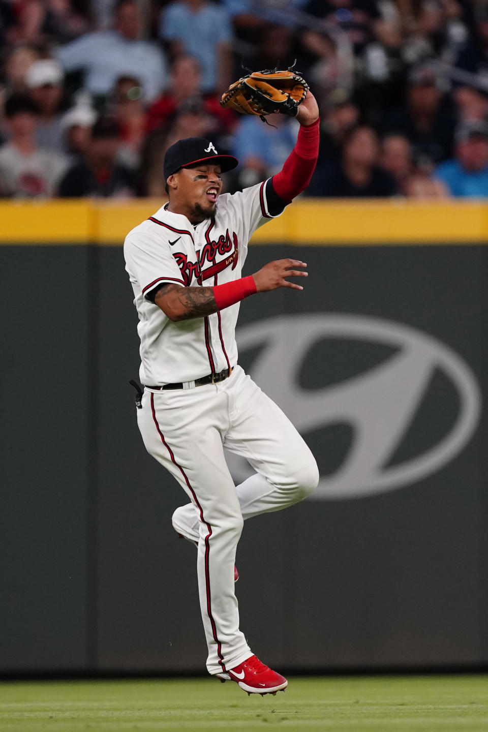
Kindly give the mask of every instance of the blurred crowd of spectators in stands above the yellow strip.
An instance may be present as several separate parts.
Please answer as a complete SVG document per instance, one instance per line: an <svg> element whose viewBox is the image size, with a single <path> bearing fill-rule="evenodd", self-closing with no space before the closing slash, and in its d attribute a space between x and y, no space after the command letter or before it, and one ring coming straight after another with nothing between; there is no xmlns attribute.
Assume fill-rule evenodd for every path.
<svg viewBox="0 0 488 732"><path fill-rule="evenodd" d="M0 197L164 197L190 136L239 158L225 190L265 179L298 123L219 100L295 59L321 115L304 195L488 197L488 0L0 0Z"/></svg>

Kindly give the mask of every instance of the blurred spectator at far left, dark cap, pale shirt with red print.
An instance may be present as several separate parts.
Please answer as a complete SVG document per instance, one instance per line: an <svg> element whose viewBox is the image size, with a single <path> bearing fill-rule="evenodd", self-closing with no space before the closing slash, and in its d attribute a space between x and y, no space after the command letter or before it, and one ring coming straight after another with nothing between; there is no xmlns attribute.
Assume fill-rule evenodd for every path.
<svg viewBox="0 0 488 732"><path fill-rule="evenodd" d="M12 94L4 109L10 140L0 147L0 190L16 198L50 196L67 166L64 155L35 143L37 106L23 94Z"/></svg>

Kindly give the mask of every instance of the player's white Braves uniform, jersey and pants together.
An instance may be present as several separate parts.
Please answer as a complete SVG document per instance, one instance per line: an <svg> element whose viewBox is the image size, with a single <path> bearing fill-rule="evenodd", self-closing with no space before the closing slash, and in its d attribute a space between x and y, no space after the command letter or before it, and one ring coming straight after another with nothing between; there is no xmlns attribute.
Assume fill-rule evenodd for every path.
<svg viewBox="0 0 488 732"><path fill-rule="evenodd" d="M300 501L315 489L318 468L285 414L237 365L239 303L204 318L173 322L154 305L151 292L162 283L205 287L239 279L249 238L285 206L284 201L277 205L273 194L271 181L222 194L214 217L195 226L163 206L132 229L124 244L139 315L140 380L146 384L138 426L148 452L191 501L176 510L173 526L198 542L200 606L212 674L252 653L239 630L234 593L243 518ZM232 373L224 381L195 386L195 379L228 368ZM178 382L181 389L151 388ZM241 485L233 483L224 447L243 455L256 471Z"/></svg>

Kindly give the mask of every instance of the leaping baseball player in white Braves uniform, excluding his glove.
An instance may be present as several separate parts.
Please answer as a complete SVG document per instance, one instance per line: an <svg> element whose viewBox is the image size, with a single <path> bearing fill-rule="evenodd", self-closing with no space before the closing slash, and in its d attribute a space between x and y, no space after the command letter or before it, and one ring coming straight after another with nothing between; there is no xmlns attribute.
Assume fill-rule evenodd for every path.
<svg viewBox="0 0 488 732"><path fill-rule="evenodd" d="M277 288L303 289L296 259L242 276L256 229L307 187L318 157L319 119L308 92L296 146L282 171L241 193L221 194L221 174L238 164L210 140L168 149L168 203L127 234L126 269L138 310L138 427L146 449L176 478L189 503L173 527L198 544L198 587L209 673L249 693L285 690L287 680L253 654L239 630L234 592L243 520L278 511L315 490L318 468L285 414L238 365L234 337L242 299ZM255 474L234 485L223 449ZM272 559L269 559L272 562Z"/></svg>

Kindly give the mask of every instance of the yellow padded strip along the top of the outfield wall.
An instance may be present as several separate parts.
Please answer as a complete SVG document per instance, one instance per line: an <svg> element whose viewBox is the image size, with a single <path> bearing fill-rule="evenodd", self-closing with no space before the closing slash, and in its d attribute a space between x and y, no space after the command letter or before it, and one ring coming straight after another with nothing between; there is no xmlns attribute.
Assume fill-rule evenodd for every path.
<svg viewBox="0 0 488 732"><path fill-rule="evenodd" d="M1 201L0 244L120 246L124 236L162 205L131 201ZM488 243L488 202L342 201L302 199L269 221L252 243Z"/></svg>

